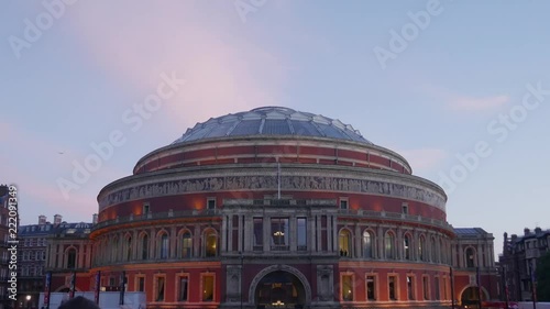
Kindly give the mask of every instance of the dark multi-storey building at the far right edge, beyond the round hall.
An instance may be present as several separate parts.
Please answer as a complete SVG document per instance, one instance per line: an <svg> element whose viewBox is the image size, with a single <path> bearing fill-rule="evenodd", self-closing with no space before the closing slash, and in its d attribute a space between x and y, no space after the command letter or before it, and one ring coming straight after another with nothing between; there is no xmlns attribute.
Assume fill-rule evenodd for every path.
<svg viewBox="0 0 550 309"><path fill-rule="evenodd" d="M524 230L522 235L504 233L503 254L498 257L503 289L509 300L531 301L537 260L550 252L550 230ZM506 295L506 294L505 294Z"/></svg>

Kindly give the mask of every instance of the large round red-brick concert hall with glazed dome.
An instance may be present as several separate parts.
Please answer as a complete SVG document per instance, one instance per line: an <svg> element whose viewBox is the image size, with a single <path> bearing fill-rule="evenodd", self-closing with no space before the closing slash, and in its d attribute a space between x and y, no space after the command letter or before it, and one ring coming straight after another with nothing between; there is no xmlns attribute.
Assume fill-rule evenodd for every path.
<svg viewBox="0 0 550 309"><path fill-rule="evenodd" d="M339 120L211 118L98 196L90 273L148 308L440 308L447 196Z"/></svg>

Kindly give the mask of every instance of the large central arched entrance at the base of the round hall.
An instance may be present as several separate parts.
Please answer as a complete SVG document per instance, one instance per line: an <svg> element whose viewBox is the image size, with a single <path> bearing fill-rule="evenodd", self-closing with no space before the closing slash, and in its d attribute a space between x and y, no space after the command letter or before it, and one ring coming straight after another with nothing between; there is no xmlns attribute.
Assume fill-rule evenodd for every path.
<svg viewBox="0 0 550 309"><path fill-rule="evenodd" d="M271 272L257 283L254 304L260 309L304 308L306 290L300 279L292 273Z"/></svg>

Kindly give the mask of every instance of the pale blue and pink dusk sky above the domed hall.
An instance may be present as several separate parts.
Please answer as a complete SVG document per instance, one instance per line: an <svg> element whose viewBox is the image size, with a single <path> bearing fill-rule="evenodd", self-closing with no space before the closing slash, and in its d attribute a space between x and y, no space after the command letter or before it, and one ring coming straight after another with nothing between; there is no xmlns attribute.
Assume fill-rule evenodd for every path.
<svg viewBox="0 0 550 309"><path fill-rule="evenodd" d="M494 233L497 253L504 231L550 228L550 93L520 108L527 85L550 90L547 1L59 1L0 11L0 175L23 224L89 221L105 185L196 122L285 106L352 124L438 184L484 141L491 155L448 190L448 221ZM392 49L404 30L417 32ZM376 48L394 52L385 68ZM162 73L186 85L134 132L122 115ZM499 122L510 111L515 130ZM58 179L117 130L124 145L66 199Z"/></svg>

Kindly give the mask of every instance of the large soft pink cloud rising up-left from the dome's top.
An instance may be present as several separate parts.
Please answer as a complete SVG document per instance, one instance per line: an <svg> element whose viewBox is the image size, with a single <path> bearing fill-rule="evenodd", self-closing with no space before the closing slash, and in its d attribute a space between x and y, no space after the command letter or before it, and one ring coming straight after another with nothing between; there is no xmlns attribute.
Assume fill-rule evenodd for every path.
<svg viewBox="0 0 550 309"><path fill-rule="evenodd" d="M242 36L246 33L242 27L252 25L241 23L232 2L211 4L228 10L223 16L207 18L197 9L200 5L210 4L80 2L74 7L77 12L70 22L90 60L144 96L156 89L163 71L186 79L178 95L164 106L172 121L163 125L180 128L183 121L190 125L207 120L212 111L223 114L280 104L278 92L287 68ZM122 19L122 14L127 16Z"/></svg>

